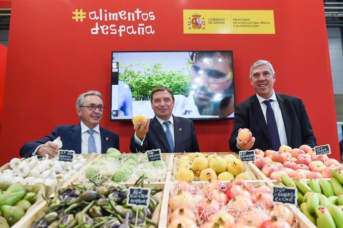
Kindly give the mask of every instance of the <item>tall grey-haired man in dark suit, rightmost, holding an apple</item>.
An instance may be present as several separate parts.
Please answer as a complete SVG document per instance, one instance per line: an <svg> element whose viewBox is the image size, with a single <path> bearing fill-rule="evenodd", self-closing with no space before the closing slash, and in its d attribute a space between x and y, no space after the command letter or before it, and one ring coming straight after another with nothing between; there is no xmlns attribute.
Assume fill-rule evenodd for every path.
<svg viewBox="0 0 343 228"><path fill-rule="evenodd" d="M270 62L256 61L250 69L250 80L256 95L241 102L235 108L234 129L229 140L232 151L278 150L279 145L288 145L292 148L298 148L302 144L311 147L317 145L302 100L274 92L275 72ZM273 113L274 123L276 123L269 122L269 128L266 100L269 100L269 107L272 108L270 112ZM275 126L274 131L270 131L271 125L276 125L277 128ZM238 132L242 128L249 128L254 137L249 141L240 141ZM274 148L272 148L272 140L275 142L275 138L278 141L273 144Z"/></svg>

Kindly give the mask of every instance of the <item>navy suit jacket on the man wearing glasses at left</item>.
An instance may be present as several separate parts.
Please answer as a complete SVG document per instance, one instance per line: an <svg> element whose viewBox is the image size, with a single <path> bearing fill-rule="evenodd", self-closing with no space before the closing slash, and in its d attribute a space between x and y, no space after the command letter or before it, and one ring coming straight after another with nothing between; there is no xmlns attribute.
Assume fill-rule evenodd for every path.
<svg viewBox="0 0 343 228"><path fill-rule="evenodd" d="M114 147L119 150L119 136L105 128L100 127L101 135L101 153L106 153L108 148ZM74 150L75 153L81 153L81 124L60 125L47 136L34 142L26 143L20 149L21 157L30 157L35 149L48 141L54 141L61 136L63 147L61 150Z"/></svg>

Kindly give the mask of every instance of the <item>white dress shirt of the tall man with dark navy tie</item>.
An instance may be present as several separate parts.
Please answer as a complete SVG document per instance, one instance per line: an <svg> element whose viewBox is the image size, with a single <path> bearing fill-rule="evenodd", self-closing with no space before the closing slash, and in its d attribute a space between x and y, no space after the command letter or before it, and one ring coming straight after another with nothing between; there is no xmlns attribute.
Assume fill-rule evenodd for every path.
<svg viewBox="0 0 343 228"><path fill-rule="evenodd" d="M257 96L257 99L259 101L259 105L261 106L265 122L267 122L267 117L266 117L267 106L263 103L263 101L271 100L270 106L273 109L273 112L275 115L275 120L276 120L276 125L277 125L277 131L279 133L280 143L281 143L281 145L287 145L285 124L283 122L281 109L280 109L279 103L276 99L276 95L275 95L274 90L273 90L273 94L271 95L271 97L269 99L264 99L264 98L258 96L257 94L256 94L256 96Z"/></svg>

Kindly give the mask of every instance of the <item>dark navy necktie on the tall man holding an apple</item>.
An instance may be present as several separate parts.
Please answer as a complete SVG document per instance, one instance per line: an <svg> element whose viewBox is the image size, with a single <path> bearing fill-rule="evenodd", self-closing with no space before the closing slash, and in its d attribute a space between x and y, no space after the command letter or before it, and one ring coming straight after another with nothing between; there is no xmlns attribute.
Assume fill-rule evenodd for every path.
<svg viewBox="0 0 343 228"><path fill-rule="evenodd" d="M279 132L277 131L275 115L273 109L271 108L270 102L271 100L263 101L263 103L267 106L266 119L271 139L271 149L274 151L278 151L281 146L281 143L279 138Z"/></svg>

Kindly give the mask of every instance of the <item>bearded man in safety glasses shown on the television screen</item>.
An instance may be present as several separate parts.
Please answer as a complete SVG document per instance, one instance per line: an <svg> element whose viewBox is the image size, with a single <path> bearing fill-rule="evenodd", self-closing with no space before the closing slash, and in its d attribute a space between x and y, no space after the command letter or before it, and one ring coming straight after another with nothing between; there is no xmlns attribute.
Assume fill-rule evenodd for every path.
<svg viewBox="0 0 343 228"><path fill-rule="evenodd" d="M180 99L179 95L175 97L175 114L233 116L232 53L193 52L189 62L191 91L187 100Z"/></svg>

